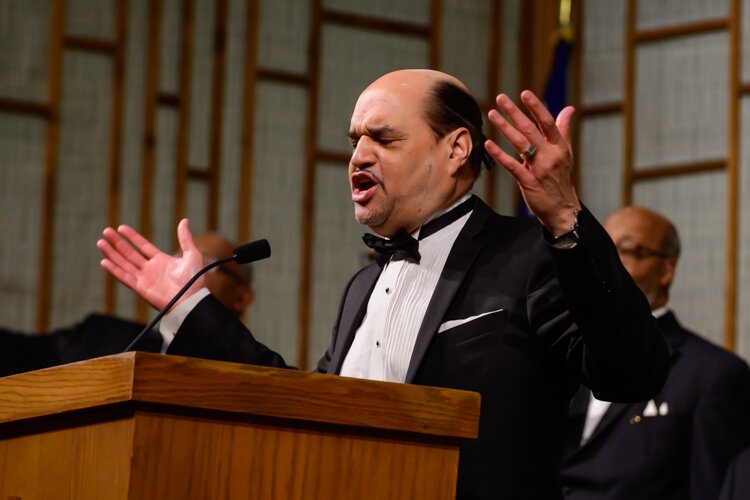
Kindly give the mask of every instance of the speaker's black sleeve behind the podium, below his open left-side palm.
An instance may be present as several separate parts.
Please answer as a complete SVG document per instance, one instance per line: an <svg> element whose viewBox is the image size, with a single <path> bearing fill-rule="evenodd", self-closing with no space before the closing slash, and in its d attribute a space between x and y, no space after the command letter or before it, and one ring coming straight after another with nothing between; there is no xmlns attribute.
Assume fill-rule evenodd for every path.
<svg viewBox="0 0 750 500"><path fill-rule="evenodd" d="M190 311L167 354L293 368L278 353L258 342L213 295L207 295Z"/></svg>

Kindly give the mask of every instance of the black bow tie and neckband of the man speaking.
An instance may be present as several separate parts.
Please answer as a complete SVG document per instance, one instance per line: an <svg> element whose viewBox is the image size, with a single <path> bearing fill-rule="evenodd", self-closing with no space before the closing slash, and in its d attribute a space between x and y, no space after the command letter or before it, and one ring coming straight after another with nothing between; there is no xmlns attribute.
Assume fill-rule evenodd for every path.
<svg viewBox="0 0 750 500"><path fill-rule="evenodd" d="M437 233L444 227L454 223L462 216L471 212L474 208L474 197L470 197L456 208L444 213L440 217L432 219L423 225L419 230L419 239L423 240L428 236ZM401 257L413 262L419 263L419 241L414 239L405 229L399 229L391 239L381 238L374 234L365 233L362 236L365 245L375 250L375 261L380 267L383 267L391 257Z"/></svg>

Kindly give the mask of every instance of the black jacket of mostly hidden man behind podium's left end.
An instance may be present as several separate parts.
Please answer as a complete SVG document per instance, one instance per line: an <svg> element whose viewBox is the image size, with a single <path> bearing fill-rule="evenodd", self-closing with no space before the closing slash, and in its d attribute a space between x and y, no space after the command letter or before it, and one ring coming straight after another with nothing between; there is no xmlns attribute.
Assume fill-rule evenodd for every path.
<svg viewBox="0 0 750 500"><path fill-rule="evenodd" d="M143 325L103 314L43 335L0 329L0 376L122 352ZM159 352L162 339L150 331L135 346Z"/></svg>

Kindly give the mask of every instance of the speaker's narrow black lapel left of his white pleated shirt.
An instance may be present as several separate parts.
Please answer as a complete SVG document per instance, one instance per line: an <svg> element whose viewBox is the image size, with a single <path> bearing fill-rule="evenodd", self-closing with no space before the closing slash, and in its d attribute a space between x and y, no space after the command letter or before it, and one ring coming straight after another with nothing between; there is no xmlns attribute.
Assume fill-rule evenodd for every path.
<svg viewBox="0 0 750 500"><path fill-rule="evenodd" d="M328 373L338 374L341 371L346 353L349 352L354 341L354 334L367 312L367 302L380 276L380 271L380 267L375 264L366 267L354 278L344 295L344 302L341 304L341 319L336 328L336 342L331 363L328 365Z"/></svg>

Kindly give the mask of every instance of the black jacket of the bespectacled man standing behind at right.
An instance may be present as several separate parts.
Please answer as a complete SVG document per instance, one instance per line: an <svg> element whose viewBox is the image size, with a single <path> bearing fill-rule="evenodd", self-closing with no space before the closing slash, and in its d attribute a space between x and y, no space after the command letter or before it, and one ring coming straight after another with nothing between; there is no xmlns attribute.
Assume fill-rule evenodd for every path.
<svg viewBox="0 0 750 500"><path fill-rule="evenodd" d="M647 402L612 404L579 446L589 400L582 388L566 434L567 499L716 500L730 460L750 444L747 364L672 313L658 322L672 364L651 408L666 414L644 415Z"/></svg>

